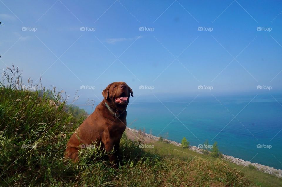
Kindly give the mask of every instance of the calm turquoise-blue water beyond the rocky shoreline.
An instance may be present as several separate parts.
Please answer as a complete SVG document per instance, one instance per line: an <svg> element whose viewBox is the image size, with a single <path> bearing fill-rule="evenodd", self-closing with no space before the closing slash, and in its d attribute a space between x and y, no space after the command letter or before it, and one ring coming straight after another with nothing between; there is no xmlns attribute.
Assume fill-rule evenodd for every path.
<svg viewBox="0 0 282 187"><path fill-rule="evenodd" d="M197 98L192 103L193 98L162 103L157 99L135 101L127 108L127 126L155 136L168 133L168 139L177 142L186 137L194 146L206 139L209 144L217 141L223 154L282 169L281 97L275 96L277 102L271 95L257 96L250 102L254 96L216 97L221 103L214 97ZM238 114L236 119L232 114ZM258 144L271 148L257 148Z"/></svg>

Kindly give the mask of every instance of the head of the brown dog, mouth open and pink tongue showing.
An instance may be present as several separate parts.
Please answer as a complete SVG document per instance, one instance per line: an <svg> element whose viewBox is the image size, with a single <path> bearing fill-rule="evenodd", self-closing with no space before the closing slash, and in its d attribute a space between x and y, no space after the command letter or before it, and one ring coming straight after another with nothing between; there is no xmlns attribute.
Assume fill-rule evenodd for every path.
<svg viewBox="0 0 282 187"><path fill-rule="evenodd" d="M130 94L133 97L132 89L125 82L113 82L102 92L104 99L117 109L127 107Z"/></svg>

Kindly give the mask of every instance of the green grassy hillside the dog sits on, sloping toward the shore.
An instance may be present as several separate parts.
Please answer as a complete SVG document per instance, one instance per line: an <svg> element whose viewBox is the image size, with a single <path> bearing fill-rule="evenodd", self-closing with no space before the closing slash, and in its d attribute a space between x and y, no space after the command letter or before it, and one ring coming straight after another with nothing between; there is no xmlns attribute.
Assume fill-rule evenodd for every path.
<svg viewBox="0 0 282 187"><path fill-rule="evenodd" d="M65 161L66 143L84 117L65 112L66 102L59 96L53 99L57 107L48 94L39 97L38 92L21 90L17 80L10 77L0 86L0 186L267 185L255 178L258 171L244 174L221 159L164 142L141 149L142 142L128 140L125 134L117 170L93 147L80 151L77 164ZM260 177L274 180L264 173ZM274 181L272 185L281 185L280 179Z"/></svg>

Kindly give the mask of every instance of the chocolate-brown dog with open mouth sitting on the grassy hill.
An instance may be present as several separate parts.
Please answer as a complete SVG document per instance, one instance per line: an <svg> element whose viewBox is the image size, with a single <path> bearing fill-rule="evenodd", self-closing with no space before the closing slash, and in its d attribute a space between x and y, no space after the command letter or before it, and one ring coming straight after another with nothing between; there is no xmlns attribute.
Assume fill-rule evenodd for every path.
<svg viewBox="0 0 282 187"><path fill-rule="evenodd" d="M78 150L97 141L105 148L110 162L117 168L117 155L122 133L126 129L126 107L133 92L125 82L113 82L103 90L103 101L95 111L78 127L66 146L65 158L78 161Z"/></svg>

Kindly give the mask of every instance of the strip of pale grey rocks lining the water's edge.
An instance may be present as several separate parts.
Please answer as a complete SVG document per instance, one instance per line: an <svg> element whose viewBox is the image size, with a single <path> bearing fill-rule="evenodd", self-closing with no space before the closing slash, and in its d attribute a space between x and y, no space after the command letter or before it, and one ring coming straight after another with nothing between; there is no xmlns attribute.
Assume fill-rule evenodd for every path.
<svg viewBox="0 0 282 187"><path fill-rule="evenodd" d="M129 127L126 127L127 130L133 132L133 133L140 133L139 130L136 130L136 129L131 129ZM154 141L158 141L159 140L159 137L156 137L152 134L148 134L148 133L145 133L145 132L141 132L142 135L144 137L147 137L149 139L152 139ZM172 141L172 140L169 140L169 139L163 139L164 141L167 141L169 144L173 144L173 145L176 145L176 146L180 146L181 143L178 143L176 141ZM196 147L196 146L189 146L189 149L192 150L192 151L195 151L199 154L203 154L202 153L202 150L201 148L199 147ZM234 164L237 164L237 165L241 165L241 166L247 166L248 165L252 165L256 168L256 170L258 171L261 171L261 172L264 172L264 173L268 173L268 174L271 174L271 175L274 175L278 178L282 178L282 170L281 169L275 169L273 167L270 167L270 166L265 166L265 165L262 165L262 164L259 164L259 163L254 163L254 162L250 162L250 161L244 161L243 159L239 159L239 158L235 158L233 156L229 156L229 155L225 155L225 154L222 154L222 158L231 162L231 163L234 163Z"/></svg>

